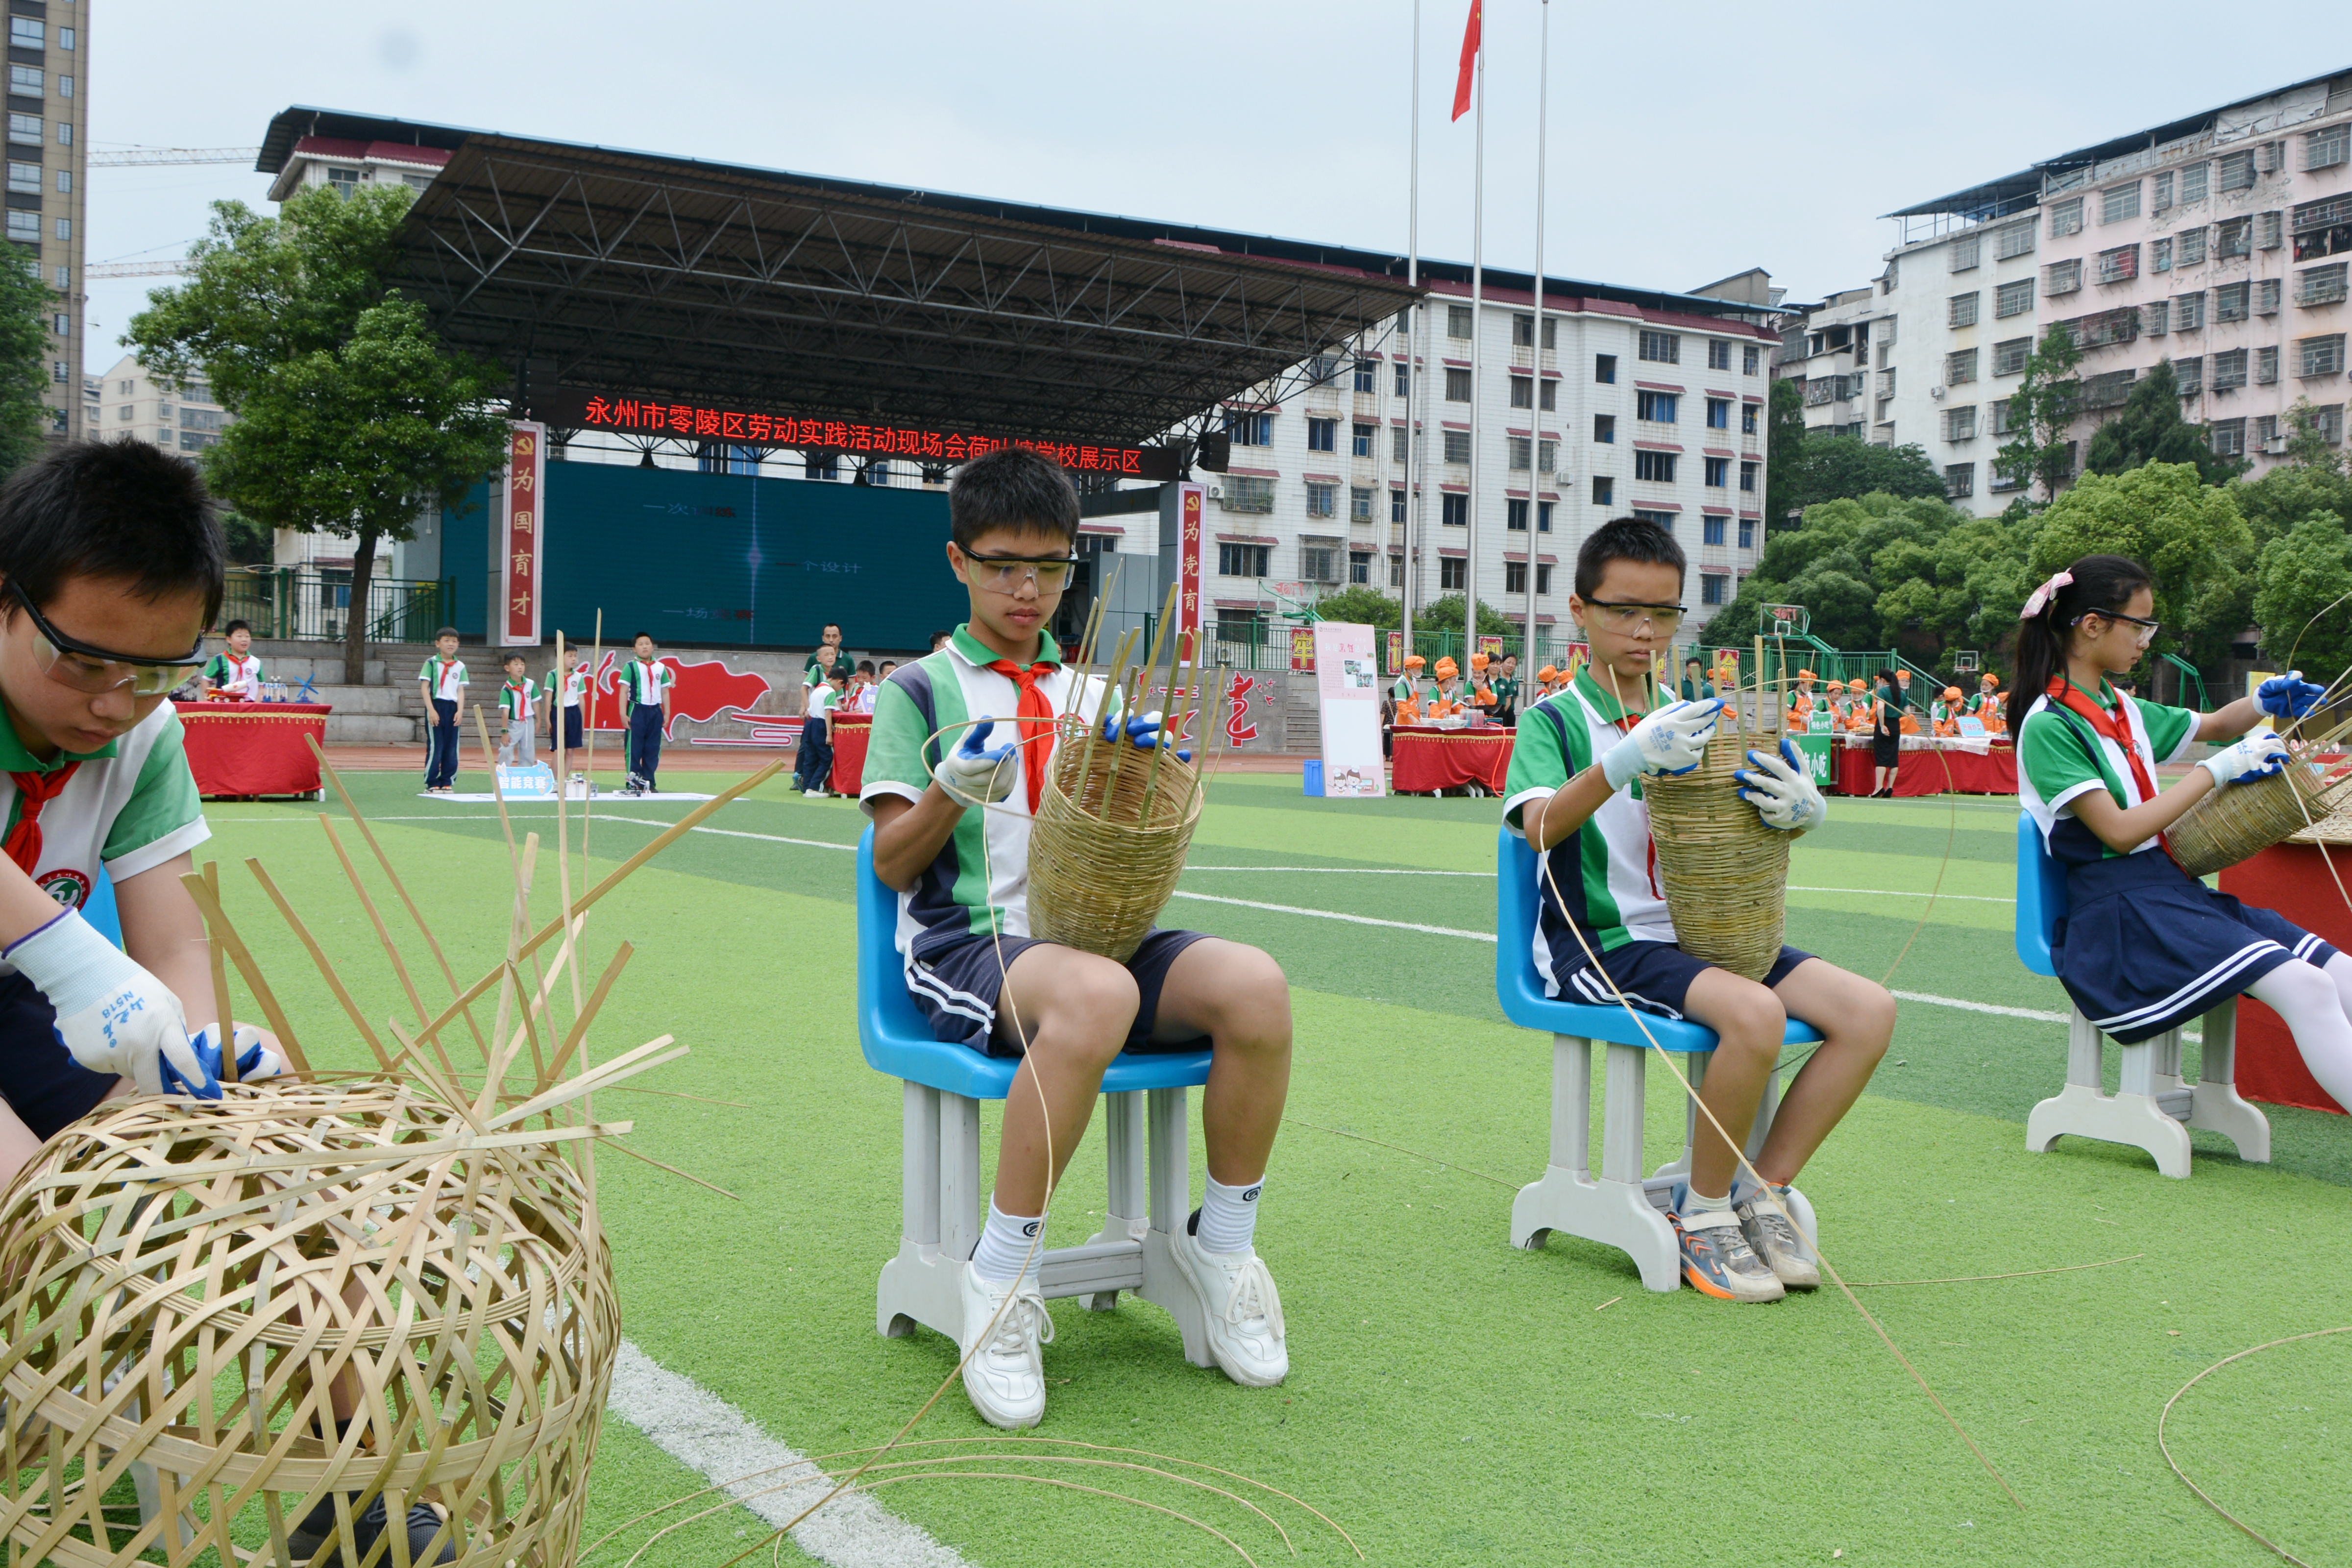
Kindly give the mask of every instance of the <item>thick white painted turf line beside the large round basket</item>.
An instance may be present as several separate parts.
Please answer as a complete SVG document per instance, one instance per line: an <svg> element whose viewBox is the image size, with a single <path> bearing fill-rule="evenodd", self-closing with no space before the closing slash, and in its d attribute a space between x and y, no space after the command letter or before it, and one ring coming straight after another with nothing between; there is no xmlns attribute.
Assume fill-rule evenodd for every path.
<svg viewBox="0 0 2352 1568"><path fill-rule="evenodd" d="M779 1443L743 1410L703 1385L663 1368L621 1340L604 1408L654 1439L687 1469L727 1490L769 1526L781 1526L830 1490L833 1481L800 1465L802 1455ZM786 1469L795 1467L795 1469ZM739 1476L750 1476L739 1481ZM666 1523L666 1521L663 1521ZM793 1540L802 1552L835 1568L971 1568L953 1547L913 1526L866 1493L847 1493L811 1514Z"/></svg>

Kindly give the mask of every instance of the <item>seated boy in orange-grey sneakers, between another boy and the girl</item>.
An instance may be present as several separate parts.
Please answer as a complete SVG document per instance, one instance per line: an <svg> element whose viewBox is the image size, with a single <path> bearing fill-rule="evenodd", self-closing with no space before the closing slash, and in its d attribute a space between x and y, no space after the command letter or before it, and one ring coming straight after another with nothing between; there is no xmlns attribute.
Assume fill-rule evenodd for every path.
<svg viewBox="0 0 2352 1568"><path fill-rule="evenodd" d="M1764 1081L1790 1018L1823 1034L1755 1157L1785 1194L1806 1159L1860 1098L1886 1053L1896 1004L1879 985L1797 947L1783 947L1762 983L1705 964L1677 945L1656 884L1656 846L1639 780L1689 773L1715 736L1717 698L1670 701L1658 663L1682 625L1684 555L1665 529L1618 517L1576 555L1569 614L1592 644L1592 668L1557 703L1519 726L1503 823L1541 856L1534 961L1545 994L1590 1006L1618 999L1665 1018L1693 1018L1719 1034L1691 1145L1691 1173L1675 1185L1668 1220L1682 1272L1717 1300L1780 1300L1820 1284L1820 1260L1738 1168ZM1795 741L1748 752L1740 799L1788 835L1818 827L1828 802L1806 776Z"/></svg>

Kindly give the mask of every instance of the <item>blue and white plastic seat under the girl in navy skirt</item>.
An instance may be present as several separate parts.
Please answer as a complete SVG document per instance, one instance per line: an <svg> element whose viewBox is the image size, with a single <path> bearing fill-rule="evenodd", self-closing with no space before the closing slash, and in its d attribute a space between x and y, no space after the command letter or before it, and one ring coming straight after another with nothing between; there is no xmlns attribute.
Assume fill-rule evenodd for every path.
<svg viewBox="0 0 2352 1568"><path fill-rule="evenodd" d="M2018 813L2018 959L2056 976L2051 940L2065 919L2065 867L2051 858L2030 811ZM2164 1175L2190 1173L2190 1133L2204 1126L2237 1145L2239 1159L2270 1161L2270 1117L2237 1093L2237 997L2204 1016L2197 1084L2180 1081L2180 1030L2124 1046L2117 1093L2100 1079L2100 1032L2067 1004L2065 1088L2025 1117L2025 1147L2049 1147L2072 1133L2147 1150Z"/></svg>

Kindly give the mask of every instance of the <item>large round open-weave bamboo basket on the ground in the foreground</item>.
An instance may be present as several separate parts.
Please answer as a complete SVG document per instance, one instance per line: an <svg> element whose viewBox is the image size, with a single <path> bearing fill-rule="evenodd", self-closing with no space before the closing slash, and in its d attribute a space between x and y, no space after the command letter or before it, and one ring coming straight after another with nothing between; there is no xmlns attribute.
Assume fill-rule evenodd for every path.
<svg viewBox="0 0 2352 1568"><path fill-rule="evenodd" d="M296 1563L313 1507L381 1493L459 1563L574 1563L621 1321L560 1150L390 1079L75 1121L0 1194L9 1561Z"/></svg>

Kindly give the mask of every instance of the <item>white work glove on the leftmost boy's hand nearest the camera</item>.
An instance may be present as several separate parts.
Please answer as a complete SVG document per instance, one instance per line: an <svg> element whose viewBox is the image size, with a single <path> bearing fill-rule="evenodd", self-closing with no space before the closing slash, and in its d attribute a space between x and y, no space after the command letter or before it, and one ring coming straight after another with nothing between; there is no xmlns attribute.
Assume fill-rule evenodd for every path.
<svg viewBox="0 0 2352 1568"><path fill-rule="evenodd" d="M219 1077L188 1044L188 1020L172 987L132 964L78 912L66 910L0 957L56 1009L56 1037L82 1067L125 1077L146 1095L221 1098Z"/></svg>

